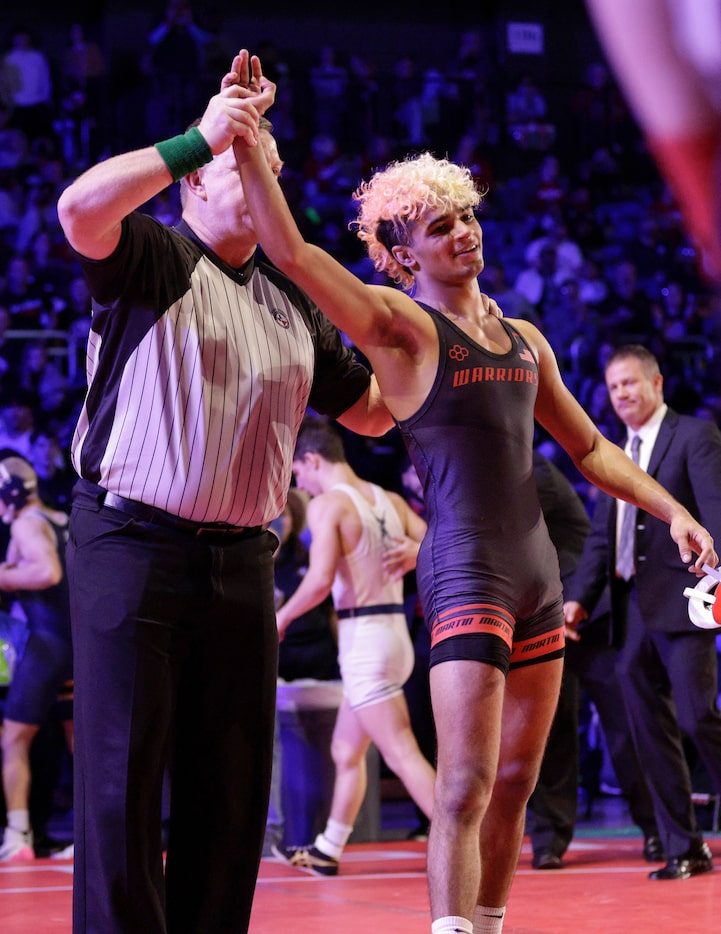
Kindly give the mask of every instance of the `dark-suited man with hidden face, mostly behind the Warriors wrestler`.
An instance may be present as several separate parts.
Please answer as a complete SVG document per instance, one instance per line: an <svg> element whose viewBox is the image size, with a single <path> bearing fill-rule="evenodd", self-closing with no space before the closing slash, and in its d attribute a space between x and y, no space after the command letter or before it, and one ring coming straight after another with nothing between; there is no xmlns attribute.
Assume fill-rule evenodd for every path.
<svg viewBox="0 0 721 934"><path fill-rule="evenodd" d="M573 577L590 520L571 482L540 451L533 452L533 474L548 534L558 552L564 591ZM663 862L653 801L631 740L628 718L616 677L617 650L610 644L610 603L604 589L579 641L566 645L558 708L551 725L538 782L528 802L528 833L534 869L561 869L573 839L578 810L580 771L579 705L581 689L598 712L613 770L640 827L643 856Z"/></svg>

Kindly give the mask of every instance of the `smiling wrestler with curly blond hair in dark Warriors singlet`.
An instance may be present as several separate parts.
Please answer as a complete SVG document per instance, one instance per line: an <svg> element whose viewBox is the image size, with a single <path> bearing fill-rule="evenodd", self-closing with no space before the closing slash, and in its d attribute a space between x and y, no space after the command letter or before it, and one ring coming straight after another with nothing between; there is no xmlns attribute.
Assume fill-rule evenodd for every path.
<svg viewBox="0 0 721 934"><path fill-rule="evenodd" d="M263 113L275 86L252 59ZM262 131L261 131L262 133ZM368 285L298 230L262 146L234 144L258 239L368 357L423 484L428 532L416 576L431 631L438 735L428 842L432 934L502 930L563 668L556 551L533 480L534 417L601 489L671 525L682 561L713 539L616 445L564 386L548 341L481 292L481 195L432 154L377 172L358 192ZM715 566L715 564L714 564Z"/></svg>

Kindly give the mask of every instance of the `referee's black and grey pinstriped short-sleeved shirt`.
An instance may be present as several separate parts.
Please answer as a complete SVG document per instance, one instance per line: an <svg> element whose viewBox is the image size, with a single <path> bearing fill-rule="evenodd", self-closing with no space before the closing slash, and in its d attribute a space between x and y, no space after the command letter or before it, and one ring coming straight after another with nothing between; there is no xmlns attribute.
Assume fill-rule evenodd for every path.
<svg viewBox="0 0 721 934"><path fill-rule="evenodd" d="M277 269L233 269L185 224L131 214L110 257L79 260L93 296L79 475L196 522L278 516L306 406L336 417L368 385L339 332Z"/></svg>

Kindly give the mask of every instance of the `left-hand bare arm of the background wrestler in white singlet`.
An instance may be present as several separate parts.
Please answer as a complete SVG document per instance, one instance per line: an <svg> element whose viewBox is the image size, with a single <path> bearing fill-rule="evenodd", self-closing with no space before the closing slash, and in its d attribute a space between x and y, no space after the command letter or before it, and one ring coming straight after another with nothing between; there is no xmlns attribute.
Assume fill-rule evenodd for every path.
<svg viewBox="0 0 721 934"><path fill-rule="evenodd" d="M322 494L312 499L308 503L306 520L311 535L308 570L298 589L276 614L281 638L294 619L318 606L328 596L342 555L335 497Z"/></svg>

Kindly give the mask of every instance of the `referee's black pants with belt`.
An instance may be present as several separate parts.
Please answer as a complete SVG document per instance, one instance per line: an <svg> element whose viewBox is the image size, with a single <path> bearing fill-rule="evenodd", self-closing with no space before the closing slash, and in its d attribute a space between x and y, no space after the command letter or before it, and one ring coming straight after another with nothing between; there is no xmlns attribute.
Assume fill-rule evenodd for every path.
<svg viewBox="0 0 721 934"><path fill-rule="evenodd" d="M247 930L272 763L276 545L269 532L204 540L76 491L75 934Z"/></svg>

